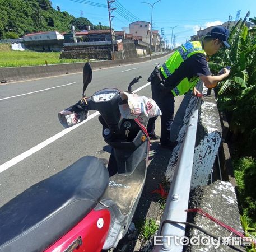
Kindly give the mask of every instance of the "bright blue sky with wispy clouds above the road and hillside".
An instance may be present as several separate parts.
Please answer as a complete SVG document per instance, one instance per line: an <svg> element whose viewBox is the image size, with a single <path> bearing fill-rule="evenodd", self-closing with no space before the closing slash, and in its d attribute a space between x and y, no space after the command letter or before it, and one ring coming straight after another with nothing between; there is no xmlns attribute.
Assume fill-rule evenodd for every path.
<svg viewBox="0 0 256 252"><path fill-rule="evenodd" d="M60 7L61 11L67 11L75 17L86 17L92 24L109 26L108 8L97 7L95 5L106 6L106 0L51 0L53 8ZM113 27L117 30L122 30L122 27L129 27L129 23L142 20L151 21L151 6L141 2L153 4L157 0L117 0L113 3L113 7L117 8L114 11ZM89 5L85 3L93 3ZM123 8L124 7L124 8ZM126 10L130 13L127 13ZM211 25L218 25L226 22L229 15L235 21L236 13L241 10L240 17L244 18L250 10L250 17L256 16L256 1L255 0L160 0L153 7L153 27L155 30L164 29L166 39L171 41L171 28L178 25L173 30L176 35L176 43L181 44L195 35L199 27L206 28ZM131 14L132 13L132 14Z"/></svg>

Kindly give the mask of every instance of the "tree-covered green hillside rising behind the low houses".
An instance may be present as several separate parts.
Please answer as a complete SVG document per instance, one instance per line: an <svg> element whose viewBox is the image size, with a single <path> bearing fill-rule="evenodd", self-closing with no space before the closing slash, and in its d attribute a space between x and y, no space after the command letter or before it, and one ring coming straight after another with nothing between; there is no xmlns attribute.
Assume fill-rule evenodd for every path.
<svg viewBox="0 0 256 252"><path fill-rule="evenodd" d="M69 32L71 25L76 30L107 29L106 26L93 25L87 18L75 18L60 7L55 10L49 0L0 0L0 39L18 38L38 31L57 30Z"/></svg>

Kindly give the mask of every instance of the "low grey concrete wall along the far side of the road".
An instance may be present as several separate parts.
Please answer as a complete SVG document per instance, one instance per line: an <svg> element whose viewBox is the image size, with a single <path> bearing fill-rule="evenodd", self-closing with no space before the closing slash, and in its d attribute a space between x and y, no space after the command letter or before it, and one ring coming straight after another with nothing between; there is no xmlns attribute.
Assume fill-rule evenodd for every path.
<svg viewBox="0 0 256 252"><path fill-rule="evenodd" d="M152 55L152 59L160 58L168 53ZM105 60L90 62L92 69L99 69L105 67L115 67L123 64L132 64L145 62L149 57L136 58L136 59L120 59L120 60ZM6 67L0 68L0 81L24 81L34 78L43 78L50 76L58 76L68 73L82 72L85 63L68 63L68 64L54 64L45 66L30 66L30 67Z"/></svg>

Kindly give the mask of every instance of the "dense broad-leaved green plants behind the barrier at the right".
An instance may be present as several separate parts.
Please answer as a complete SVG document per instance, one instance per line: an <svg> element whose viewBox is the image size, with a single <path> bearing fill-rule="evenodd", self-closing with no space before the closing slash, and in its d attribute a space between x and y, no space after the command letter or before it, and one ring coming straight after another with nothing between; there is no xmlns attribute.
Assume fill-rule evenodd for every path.
<svg viewBox="0 0 256 252"><path fill-rule="evenodd" d="M239 20L231 30L231 48L218 53L210 68L217 73L231 66L229 78L217 88L217 103L230 125L229 143L238 183L238 199L245 226L256 228L256 28ZM256 18L249 18L256 24ZM213 62L219 62L218 64ZM250 229L249 229L250 230Z"/></svg>

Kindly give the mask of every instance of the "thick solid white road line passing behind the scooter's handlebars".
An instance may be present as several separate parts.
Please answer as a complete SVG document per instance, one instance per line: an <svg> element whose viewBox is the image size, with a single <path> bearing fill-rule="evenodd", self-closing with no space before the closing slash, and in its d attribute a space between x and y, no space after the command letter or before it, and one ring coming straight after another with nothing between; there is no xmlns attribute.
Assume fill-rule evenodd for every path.
<svg viewBox="0 0 256 252"><path fill-rule="evenodd" d="M147 87L148 85L150 85L150 82L148 82L147 84L143 85L142 87L137 88L136 90L134 90L133 92L138 92L139 90L142 90L143 88ZM81 125L83 125L84 123L88 122L89 120L91 120L92 118L94 118L95 116L99 115L99 112L95 112L91 115L88 116L88 118L86 120L84 120L81 123L78 123L70 128L64 129L61 132L55 134L54 136L46 139L44 142L39 143L38 145L30 148L29 150L21 153L20 155L13 157L11 160L5 162L4 164L0 165L0 173L7 170L8 168L12 167L13 165L16 165L18 162L24 160L25 158L31 156L32 154L34 154L35 152L40 151L41 149L43 149L45 146L48 146L50 143L53 143L54 141L56 141L57 139L59 139L60 137L65 136L67 133L71 132L72 130L80 127Z"/></svg>

